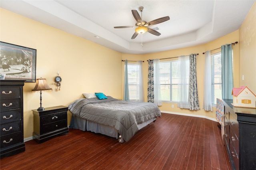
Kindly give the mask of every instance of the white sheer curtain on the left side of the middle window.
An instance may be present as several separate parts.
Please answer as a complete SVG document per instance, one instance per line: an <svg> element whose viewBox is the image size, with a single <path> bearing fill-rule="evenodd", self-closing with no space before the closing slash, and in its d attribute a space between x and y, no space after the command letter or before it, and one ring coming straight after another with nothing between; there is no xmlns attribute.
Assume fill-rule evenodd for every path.
<svg viewBox="0 0 256 170"><path fill-rule="evenodd" d="M160 59L154 59L154 103L162 106L161 91L160 91Z"/></svg>

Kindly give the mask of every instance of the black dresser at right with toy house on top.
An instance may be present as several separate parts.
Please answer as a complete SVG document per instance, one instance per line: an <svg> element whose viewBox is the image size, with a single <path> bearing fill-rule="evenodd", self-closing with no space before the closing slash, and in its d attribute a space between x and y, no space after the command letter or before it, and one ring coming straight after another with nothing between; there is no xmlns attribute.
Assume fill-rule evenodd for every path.
<svg viewBox="0 0 256 170"><path fill-rule="evenodd" d="M223 101L224 144L232 168L256 170L256 109L234 107L232 99Z"/></svg>

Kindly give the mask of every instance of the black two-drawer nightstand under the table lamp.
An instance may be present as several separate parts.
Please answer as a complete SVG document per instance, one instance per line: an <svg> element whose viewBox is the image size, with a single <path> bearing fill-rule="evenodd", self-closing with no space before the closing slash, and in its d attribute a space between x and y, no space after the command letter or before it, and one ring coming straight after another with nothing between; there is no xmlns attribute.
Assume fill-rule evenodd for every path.
<svg viewBox="0 0 256 170"><path fill-rule="evenodd" d="M56 106L44 111L32 110L34 115L33 139L38 143L45 142L58 135L68 134L68 107Z"/></svg>

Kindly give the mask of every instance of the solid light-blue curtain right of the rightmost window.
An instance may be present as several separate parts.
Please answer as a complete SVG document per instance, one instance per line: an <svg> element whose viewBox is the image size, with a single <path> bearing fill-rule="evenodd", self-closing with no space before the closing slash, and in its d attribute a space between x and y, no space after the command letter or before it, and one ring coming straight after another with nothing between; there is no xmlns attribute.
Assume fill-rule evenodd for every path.
<svg viewBox="0 0 256 170"><path fill-rule="evenodd" d="M233 61L232 44L221 46L221 80L222 80L222 99L233 99Z"/></svg>

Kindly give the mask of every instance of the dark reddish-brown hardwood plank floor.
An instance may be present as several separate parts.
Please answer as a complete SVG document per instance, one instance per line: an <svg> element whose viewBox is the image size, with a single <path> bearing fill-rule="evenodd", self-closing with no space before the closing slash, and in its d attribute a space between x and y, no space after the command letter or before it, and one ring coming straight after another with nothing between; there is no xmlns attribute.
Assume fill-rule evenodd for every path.
<svg viewBox="0 0 256 170"><path fill-rule="evenodd" d="M128 142L69 129L42 144L0 160L1 170L230 170L218 123L162 113Z"/></svg>

